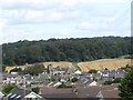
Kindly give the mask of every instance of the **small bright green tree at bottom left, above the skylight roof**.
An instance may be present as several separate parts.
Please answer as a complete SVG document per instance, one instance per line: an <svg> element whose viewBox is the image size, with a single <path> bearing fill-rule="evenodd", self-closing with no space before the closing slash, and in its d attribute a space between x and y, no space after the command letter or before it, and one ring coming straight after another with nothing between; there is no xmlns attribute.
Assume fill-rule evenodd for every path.
<svg viewBox="0 0 133 100"><path fill-rule="evenodd" d="M4 86L2 87L2 92L7 94L7 93L9 93L11 90L17 89L17 88L18 88L18 86L14 84L14 83L4 84Z"/></svg>

